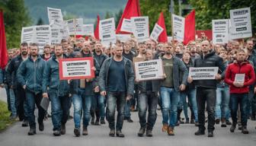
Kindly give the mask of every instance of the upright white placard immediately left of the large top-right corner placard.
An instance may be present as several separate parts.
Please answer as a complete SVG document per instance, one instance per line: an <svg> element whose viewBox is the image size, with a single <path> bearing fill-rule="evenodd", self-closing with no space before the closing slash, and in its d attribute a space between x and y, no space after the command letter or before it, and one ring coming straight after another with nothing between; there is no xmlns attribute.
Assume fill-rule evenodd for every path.
<svg viewBox="0 0 256 146"><path fill-rule="evenodd" d="M213 20L213 44L229 42L229 19Z"/></svg>

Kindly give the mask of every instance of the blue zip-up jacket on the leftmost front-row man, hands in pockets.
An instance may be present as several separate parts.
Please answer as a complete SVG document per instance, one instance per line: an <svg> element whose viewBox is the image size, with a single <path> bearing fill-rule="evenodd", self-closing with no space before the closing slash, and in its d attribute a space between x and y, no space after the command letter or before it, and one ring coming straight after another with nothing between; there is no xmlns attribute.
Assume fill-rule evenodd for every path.
<svg viewBox="0 0 256 146"><path fill-rule="evenodd" d="M17 71L18 82L21 86L26 85L26 90L30 90L35 94L42 92L43 70L46 62L37 56L37 60L28 57L27 60L21 62Z"/></svg>

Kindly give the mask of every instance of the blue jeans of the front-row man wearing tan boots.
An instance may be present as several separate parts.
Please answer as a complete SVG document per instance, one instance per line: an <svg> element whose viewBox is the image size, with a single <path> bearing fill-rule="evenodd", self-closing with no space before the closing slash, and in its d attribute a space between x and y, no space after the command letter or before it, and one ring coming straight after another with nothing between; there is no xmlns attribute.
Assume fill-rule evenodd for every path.
<svg viewBox="0 0 256 146"><path fill-rule="evenodd" d="M179 92L170 87L161 87L160 90L162 98L162 123L174 128L177 122Z"/></svg>

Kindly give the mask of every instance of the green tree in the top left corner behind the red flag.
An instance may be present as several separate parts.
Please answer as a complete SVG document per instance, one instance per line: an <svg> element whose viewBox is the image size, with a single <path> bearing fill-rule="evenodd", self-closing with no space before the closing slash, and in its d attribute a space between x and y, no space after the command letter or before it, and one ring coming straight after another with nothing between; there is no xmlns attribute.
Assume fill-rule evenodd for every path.
<svg viewBox="0 0 256 146"><path fill-rule="evenodd" d="M31 24L24 0L3 0L0 9L4 10L7 47L18 47L21 43L21 28Z"/></svg>

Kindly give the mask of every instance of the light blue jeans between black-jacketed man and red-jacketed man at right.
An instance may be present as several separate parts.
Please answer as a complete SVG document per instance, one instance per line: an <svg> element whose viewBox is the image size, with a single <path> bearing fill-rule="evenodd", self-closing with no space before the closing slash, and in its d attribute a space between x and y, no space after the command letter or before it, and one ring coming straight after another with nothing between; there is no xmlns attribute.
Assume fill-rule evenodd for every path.
<svg viewBox="0 0 256 146"><path fill-rule="evenodd" d="M215 118L225 118L228 117L229 110L229 86L217 87L216 89L216 106L215 106Z"/></svg>

